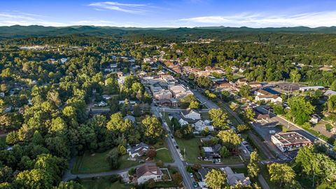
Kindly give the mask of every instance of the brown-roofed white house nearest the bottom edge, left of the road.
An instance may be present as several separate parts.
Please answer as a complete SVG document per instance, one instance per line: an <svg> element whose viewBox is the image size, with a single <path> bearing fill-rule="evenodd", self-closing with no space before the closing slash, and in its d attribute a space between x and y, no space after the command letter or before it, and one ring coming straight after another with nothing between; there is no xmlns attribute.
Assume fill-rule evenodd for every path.
<svg viewBox="0 0 336 189"><path fill-rule="evenodd" d="M162 179L162 172L156 165L144 165L136 170L138 184L146 183L150 179L160 181Z"/></svg>

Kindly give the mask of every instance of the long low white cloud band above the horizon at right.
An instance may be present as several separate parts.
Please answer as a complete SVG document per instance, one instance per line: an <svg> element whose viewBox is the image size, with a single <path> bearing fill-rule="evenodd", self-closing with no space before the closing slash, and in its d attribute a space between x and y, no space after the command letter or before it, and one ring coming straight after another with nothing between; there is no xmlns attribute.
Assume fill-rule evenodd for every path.
<svg viewBox="0 0 336 189"><path fill-rule="evenodd" d="M336 11L323 11L311 13L241 13L237 15L211 15L195 18L182 18L178 22L193 25L223 25L228 27L330 27L336 25Z"/></svg>

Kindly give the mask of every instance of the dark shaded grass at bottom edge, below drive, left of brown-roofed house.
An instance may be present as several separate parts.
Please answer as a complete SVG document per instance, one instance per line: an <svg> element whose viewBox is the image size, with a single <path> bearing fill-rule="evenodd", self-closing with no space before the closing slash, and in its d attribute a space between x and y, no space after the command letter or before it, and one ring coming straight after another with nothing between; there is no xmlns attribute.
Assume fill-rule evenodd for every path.
<svg viewBox="0 0 336 189"><path fill-rule="evenodd" d="M118 181L111 183L111 181L109 181L109 176L100 177L98 179L83 179L82 185L84 186L84 188L87 188L87 189L115 189L115 188L128 189L128 188L132 188L131 186L123 184L123 183L119 183Z"/></svg>

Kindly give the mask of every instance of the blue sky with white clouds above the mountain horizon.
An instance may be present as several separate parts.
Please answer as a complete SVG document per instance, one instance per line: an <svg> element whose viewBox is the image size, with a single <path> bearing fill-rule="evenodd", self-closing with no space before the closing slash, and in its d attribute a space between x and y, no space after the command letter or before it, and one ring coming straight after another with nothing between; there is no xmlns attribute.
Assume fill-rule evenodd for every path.
<svg viewBox="0 0 336 189"><path fill-rule="evenodd" d="M0 1L0 26L336 26L332 0Z"/></svg>

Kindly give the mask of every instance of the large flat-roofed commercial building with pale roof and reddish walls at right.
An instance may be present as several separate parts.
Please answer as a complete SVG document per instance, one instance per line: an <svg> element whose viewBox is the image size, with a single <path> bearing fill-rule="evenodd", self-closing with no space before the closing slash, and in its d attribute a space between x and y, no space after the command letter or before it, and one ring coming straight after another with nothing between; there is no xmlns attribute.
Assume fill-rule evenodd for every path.
<svg viewBox="0 0 336 189"><path fill-rule="evenodd" d="M312 144L309 139L297 132L281 132L274 134L271 136L271 141L282 152L295 151L301 146Z"/></svg>

